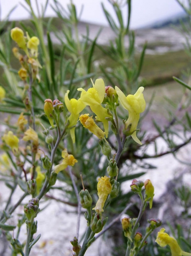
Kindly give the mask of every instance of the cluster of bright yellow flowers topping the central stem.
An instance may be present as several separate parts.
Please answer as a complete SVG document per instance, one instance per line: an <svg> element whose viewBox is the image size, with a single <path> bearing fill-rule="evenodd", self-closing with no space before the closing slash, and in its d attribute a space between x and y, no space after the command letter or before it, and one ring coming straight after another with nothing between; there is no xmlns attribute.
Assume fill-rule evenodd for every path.
<svg viewBox="0 0 191 256"><path fill-rule="evenodd" d="M92 81L92 79L91 79ZM109 91L107 87L105 87L103 79L99 78L95 81L95 84L92 81L92 88L89 88L85 91L83 88L78 88L78 91L81 91L81 96L78 100L70 99L69 100L69 90L65 94L65 104L71 115L69 117L69 127L71 138L73 142L75 142L75 125L79 118L79 113L86 107L89 106L91 110L96 114L96 120L101 121L104 125L104 135L108 136L109 131L109 123L108 119L111 116L108 114L106 108L102 107L102 102L105 96L105 90ZM118 95L119 101L126 110L129 112L129 117L125 123L125 134L131 135L133 140L138 144L142 144L140 140L137 138L136 131L137 125L140 118L140 113L145 110L145 99L143 97L143 87L140 87L134 95L129 94L127 97L125 94L115 86L115 89L112 88L112 94ZM99 127L94 124L94 121L91 117L87 118L87 114L81 115L79 118L81 123L85 128L88 128L89 131L94 133L98 138L103 138L103 131L98 129Z"/></svg>

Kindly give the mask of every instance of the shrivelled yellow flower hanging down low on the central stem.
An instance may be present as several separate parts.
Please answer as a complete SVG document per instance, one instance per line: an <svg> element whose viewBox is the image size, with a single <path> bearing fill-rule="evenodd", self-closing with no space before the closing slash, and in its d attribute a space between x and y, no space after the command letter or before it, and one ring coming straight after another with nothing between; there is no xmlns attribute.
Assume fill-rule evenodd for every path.
<svg viewBox="0 0 191 256"><path fill-rule="evenodd" d="M102 178L99 178L99 181L97 183L97 195L99 197L96 206L93 208L98 214L101 214L104 209L104 204L107 199L107 196L112 191L112 185L110 183L110 178L107 176L104 176Z"/></svg>

